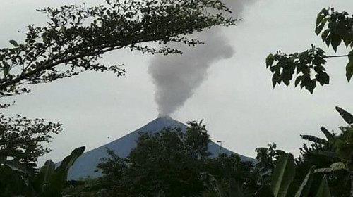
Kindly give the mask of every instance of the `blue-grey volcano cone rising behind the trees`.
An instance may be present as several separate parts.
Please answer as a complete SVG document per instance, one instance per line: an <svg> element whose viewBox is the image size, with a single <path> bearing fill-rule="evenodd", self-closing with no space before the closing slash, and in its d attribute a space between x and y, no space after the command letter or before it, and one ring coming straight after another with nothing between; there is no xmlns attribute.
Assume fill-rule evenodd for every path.
<svg viewBox="0 0 353 197"><path fill-rule="evenodd" d="M79 179L85 177L101 177L102 172L95 172L97 169L98 163L100 163L101 158L108 158L109 155L107 153L107 148L111 149L118 155L120 158L126 158L130 153L131 149L136 148L136 141L140 136L140 132L160 132L164 127L172 127L172 128L180 128L181 131L185 132L186 126L185 124L172 119L171 117L158 117L147 125L140 127L134 132L127 134L115 141L110 142L109 144L105 144L98 148L92 149L91 151L87 151L83 153L83 155L76 160L75 164L70 168L68 172L68 179ZM227 155L236 154L232 151L229 151L227 148L220 147L213 141L208 143L208 152L210 153L210 158L216 158L220 153L226 153ZM254 162L253 158L248 158L243 155L239 155L242 161L251 161Z"/></svg>

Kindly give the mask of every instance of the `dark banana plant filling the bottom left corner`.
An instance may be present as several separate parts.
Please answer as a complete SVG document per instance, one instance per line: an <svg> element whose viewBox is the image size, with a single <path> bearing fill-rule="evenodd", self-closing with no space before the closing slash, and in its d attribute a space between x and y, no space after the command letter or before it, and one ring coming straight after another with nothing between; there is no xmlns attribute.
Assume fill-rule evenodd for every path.
<svg viewBox="0 0 353 197"><path fill-rule="evenodd" d="M47 160L40 170L15 161L2 161L0 179L6 179L7 184L0 185L1 196L61 197L68 170L84 151L84 146L76 148L58 167Z"/></svg>

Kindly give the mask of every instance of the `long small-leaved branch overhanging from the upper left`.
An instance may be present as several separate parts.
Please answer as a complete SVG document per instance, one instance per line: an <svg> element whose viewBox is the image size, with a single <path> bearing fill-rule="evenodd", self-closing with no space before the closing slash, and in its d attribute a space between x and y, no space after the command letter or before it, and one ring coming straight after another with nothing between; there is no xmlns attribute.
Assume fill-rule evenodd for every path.
<svg viewBox="0 0 353 197"><path fill-rule="evenodd" d="M142 53L181 53L170 42L202 44L187 34L213 26L234 25L219 0L106 0L86 7L62 6L38 10L47 15L45 27L28 26L24 43L10 40L0 49L0 94L27 92L24 84L51 82L84 70L124 75L120 65L97 60L108 51L128 48ZM148 42L160 44L156 49Z"/></svg>

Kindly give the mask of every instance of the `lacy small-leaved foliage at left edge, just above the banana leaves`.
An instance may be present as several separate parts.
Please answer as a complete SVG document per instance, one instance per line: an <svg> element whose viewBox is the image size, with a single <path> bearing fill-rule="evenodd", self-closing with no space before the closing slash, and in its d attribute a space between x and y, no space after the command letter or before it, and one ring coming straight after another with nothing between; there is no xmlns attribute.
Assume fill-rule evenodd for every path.
<svg viewBox="0 0 353 197"><path fill-rule="evenodd" d="M37 158L49 153L44 142L61 131L59 123L25 117L0 117L0 158L13 158L20 163L35 163ZM0 160L1 163L1 160Z"/></svg>

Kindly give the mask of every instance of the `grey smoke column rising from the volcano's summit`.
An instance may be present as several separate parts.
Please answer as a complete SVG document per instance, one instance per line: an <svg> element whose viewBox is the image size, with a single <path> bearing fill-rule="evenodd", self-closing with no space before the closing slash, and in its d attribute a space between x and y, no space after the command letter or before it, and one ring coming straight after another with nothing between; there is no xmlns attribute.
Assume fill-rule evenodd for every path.
<svg viewBox="0 0 353 197"><path fill-rule="evenodd" d="M223 1L237 16L251 0ZM195 35L205 44L196 47L175 45L183 55L162 56L152 58L148 72L156 86L155 101L159 116L170 115L178 110L193 92L207 78L207 70L213 63L231 58L234 49L229 39L222 34L220 28L205 30Z"/></svg>

